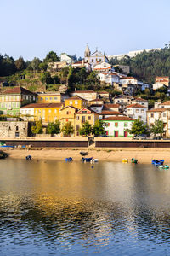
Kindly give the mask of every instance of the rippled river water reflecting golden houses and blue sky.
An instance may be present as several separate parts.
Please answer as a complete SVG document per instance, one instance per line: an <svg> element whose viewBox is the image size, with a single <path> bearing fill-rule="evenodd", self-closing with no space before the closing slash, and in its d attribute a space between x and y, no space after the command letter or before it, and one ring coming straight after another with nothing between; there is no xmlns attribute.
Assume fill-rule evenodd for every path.
<svg viewBox="0 0 170 256"><path fill-rule="evenodd" d="M170 171L1 160L0 255L169 255Z"/></svg>

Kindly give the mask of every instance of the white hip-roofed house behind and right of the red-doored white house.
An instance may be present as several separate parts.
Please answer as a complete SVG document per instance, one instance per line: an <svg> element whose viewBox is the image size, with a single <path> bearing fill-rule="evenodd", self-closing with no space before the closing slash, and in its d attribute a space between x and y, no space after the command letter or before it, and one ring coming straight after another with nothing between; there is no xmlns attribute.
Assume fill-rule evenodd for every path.
<svg viewBox="0 0 170 256"><path fill-rule="evenodd" d="M127 116L132 118L132 119L140 119L141 121L146 123L146 111L147 108L136 103L136 104L131 104L127 106Z"/></svg>

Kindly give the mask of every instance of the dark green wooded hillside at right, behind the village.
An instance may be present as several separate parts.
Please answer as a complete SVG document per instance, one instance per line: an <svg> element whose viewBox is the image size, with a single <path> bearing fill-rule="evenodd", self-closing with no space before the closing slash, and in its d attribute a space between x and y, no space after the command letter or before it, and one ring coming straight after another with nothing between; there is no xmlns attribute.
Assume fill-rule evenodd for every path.
<svg viewBox="0 0 170 256"><path fill-rule="evenodd" d="M144 51L133 58L126 56L122 60L111 59L111 64L130 66L131 75L153 84L156 76L170 77L170 47L161 50Z"/></svg>

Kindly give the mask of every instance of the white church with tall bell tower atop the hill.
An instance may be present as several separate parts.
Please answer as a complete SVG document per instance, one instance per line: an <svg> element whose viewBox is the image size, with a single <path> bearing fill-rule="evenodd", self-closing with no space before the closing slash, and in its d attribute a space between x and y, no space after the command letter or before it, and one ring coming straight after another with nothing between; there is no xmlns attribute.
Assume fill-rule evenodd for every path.
<svg viewBox="0 0 170 256"><path fill-rule="evenodd" d="M91 65L92 70L94 70L94 66L96 64L102 63L102 62L106 62L108 63L108 58L107 56L105 56L105 54L102 54L101 52L99 52L97 49L96 51L91 54L91 51L89 49L89 46L87 44L85 52L84 52L84 63L88 63Z"/></svg>

